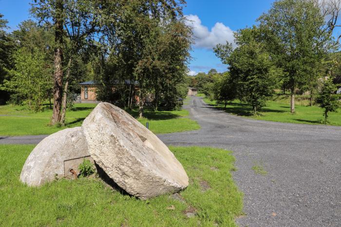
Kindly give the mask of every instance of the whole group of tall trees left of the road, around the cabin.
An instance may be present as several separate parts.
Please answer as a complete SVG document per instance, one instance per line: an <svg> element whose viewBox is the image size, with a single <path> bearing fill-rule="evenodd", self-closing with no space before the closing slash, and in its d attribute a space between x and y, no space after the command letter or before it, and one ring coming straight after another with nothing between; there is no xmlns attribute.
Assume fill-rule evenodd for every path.
<svg viewBox="0 0 341 227"><path fill-rule="evenodd" d="M33 0L36 20L12 33L0 15L0 101L39 111L53 99L52 124L64 124L78 83L94 80L98 100L132 108L138 96L141 117L147 98L152 109L175 108L188 86L191 30L184 3Z"/></svg>

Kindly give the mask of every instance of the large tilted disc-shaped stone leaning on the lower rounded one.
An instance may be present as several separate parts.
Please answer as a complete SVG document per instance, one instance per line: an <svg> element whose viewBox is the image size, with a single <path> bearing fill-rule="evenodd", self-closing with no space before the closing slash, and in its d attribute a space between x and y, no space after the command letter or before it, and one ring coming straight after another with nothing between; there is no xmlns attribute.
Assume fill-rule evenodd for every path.
<svg viewBox="0 0 341 227"><path fill-rule="evenodd" d="M83 133L95 162L128 193L148 199L188 186L188 176L168 147L130 114L99 103Z"/></svg>

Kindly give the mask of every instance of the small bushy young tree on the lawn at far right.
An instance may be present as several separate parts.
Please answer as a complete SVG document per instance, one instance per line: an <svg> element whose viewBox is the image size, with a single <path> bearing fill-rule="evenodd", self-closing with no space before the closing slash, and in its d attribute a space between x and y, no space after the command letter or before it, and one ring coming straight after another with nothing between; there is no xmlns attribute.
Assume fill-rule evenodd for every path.
<svg viewBox="0 0 341 227"><path fill-rule="evenodd" d="M316 103L324 109L324 122L328 122L328 113L337 112L340 107L340 95L336 94L338 90L336 84L333 83L333 77L329 76L323 83L323 86L316 98Z"/></svg>

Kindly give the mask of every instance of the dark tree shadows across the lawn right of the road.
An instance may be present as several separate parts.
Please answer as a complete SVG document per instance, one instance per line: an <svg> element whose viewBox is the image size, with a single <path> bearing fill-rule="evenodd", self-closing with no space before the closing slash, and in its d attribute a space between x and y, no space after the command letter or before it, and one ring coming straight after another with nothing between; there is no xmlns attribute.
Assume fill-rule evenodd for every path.
<svg viewBox="0 0 341 227"><path fill-rule="evenodd" d="M211 109L225 111L230 114L236 114L238 116L252 116L252 108L248 106L246 103L232 103L232 105L227 105L226 109L224 106L216 106L213 104L208 104ZM263 108L261 113L284 113L283 110L273 110L268 108Z"/></svg>

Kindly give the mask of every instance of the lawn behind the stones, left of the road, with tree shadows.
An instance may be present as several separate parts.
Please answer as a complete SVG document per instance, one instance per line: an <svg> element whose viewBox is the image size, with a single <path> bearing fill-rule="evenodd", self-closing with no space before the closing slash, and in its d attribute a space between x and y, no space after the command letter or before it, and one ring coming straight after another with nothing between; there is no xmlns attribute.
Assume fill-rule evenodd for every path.
<svg viewBox="0 0 341 227"><path fill-rule="evenodd" d="M52 134L64 128L80 126L85 117L95 108L96 104L75 104L66 113L66 127L49 126L52 110L35 113L27 106L0 106L0 135L39 135ZM136 117L137 111L131 111ZM199 129L200 126L188 116L188 111L156 111L146 110L145 117L149 121L149 129L154 133L183 132ZM146 119L140 120L142 124Z"/></svg>

